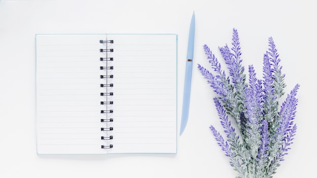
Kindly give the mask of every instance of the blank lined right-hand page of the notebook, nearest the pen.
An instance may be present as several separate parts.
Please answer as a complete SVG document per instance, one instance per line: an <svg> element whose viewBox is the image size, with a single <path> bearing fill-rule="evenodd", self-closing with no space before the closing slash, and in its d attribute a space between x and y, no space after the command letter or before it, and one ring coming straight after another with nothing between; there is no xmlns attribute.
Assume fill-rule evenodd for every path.
<svg viewBox="0 0 317 178"><path fill-rule="evenodd" d="M108 153L176 153L176 35L113 39L113 140Z"/></svg>

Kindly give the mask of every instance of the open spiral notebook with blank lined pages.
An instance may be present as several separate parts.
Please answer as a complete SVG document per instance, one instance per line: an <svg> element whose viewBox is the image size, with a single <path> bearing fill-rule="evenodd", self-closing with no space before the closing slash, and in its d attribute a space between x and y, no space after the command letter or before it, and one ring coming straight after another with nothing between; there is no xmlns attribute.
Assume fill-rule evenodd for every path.
<svg viewBox="0 0 317 178"><path fill-rule="evenodd" d="M176 34L37 34L38 154L176 153Z"/></svg>

